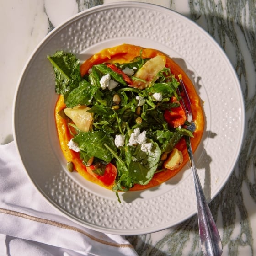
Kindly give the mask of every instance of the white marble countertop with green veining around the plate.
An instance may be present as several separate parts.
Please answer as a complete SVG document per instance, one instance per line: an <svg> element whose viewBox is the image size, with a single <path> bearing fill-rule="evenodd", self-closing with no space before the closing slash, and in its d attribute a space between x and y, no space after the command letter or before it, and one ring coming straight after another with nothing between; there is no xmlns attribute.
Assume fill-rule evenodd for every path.
<svg viewBox="0 0 256 256"><path fill-rule="evenodd" d="M30 54L54 27L87 8L111 0L9 0L0 2L0 143L13 140L12 105ZM151 2L154 1L144 1ZM224 245L223 255L256 254L256 1L159 0L187 16L224 49L245 99L245 138L229 181L209 204ZM140 256L202 255L197 216L176 227L127 239Z"/></svg>

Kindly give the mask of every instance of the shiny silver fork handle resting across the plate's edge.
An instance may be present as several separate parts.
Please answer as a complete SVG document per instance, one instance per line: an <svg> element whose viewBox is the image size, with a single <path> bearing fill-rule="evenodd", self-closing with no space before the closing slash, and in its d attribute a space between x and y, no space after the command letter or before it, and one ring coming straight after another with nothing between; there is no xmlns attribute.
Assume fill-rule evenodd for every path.
<svg viewBox="0 0 256 256"><path fill-rule="evenodd" d="M203 188L201 186L197 169L194 163L190 138L185 138L187 144L187 152L190 159L191 169L193 173L193 180L196 189L197 198L197 214L199 225L199 236L204 255L207 256L221 256L223 247L219 236L218 228L214 222L213 215L205 199Z"/></svg>

